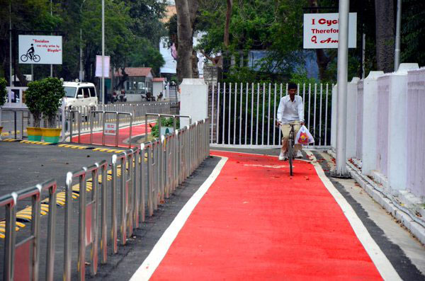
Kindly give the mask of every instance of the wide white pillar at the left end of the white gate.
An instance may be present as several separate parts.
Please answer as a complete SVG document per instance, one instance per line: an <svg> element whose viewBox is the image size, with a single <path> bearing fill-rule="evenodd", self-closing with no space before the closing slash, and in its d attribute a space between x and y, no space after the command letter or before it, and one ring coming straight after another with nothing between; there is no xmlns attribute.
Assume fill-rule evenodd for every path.
<svg viewBox="0 0 425 281"><path fill-rule="evenodd" d="M183 79L181 82L180 114L191 115L192 122L208 117L208 86L204 79ZM188 118L180 119L180 127L189 125Z"/></svg>

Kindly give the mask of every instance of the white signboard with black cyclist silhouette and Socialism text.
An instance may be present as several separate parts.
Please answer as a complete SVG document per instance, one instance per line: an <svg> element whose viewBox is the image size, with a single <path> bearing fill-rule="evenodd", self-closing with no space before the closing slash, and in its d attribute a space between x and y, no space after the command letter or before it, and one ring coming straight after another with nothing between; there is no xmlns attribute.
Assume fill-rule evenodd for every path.
<svg viewBox="0 0 425 281"><path fill-rule="evenodd" d="M19 35L20 64L62 64L62 36Z"/></svg>

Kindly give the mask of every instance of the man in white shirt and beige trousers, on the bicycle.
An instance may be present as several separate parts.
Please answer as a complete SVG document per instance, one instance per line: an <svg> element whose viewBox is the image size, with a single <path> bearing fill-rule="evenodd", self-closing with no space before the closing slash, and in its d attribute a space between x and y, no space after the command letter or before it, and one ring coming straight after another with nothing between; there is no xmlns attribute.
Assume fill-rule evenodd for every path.
<svg viewBox="0 0 425 281"><path fill-rule="evenodd" d="M304 103L300 96L295 96L297 93L297 85L290 83L288 84L288 96L280 98L278 107L277 122L282 130L282 148L280 149L279 160L288 159L288 138L290 134L290 125L295 123L294 130L295 136L300 130L301 126L304 125ZM295 144L295 158L302 158L302 146L301 144Z"/></svg>

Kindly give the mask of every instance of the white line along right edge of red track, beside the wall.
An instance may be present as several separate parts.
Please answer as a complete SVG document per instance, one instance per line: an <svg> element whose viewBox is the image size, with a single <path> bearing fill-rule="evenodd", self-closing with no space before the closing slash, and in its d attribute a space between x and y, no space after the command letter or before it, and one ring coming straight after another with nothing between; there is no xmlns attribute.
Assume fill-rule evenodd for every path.
<svg viewBox="0 0 425 281"><path fill-rule="evenodd" d="M331 193L331 195L334 197L339 207L341 207L342 212L344 212L344 215L351 224L351 227L356 233L358 240L362 243L366 252L372 259L381 277L384 280L402 280L402 278L399 277L397 271L395 271L395 268L390 263L390 260L388 260L387 256L382 253L378 244L375 242L375 240L373 240L372 236L370 236L368 229L365 228L363 222L361 222L361 219L357 216L356 212L354 212L351 205L348 204L344 196L339 193L339 191L331 183L331 180L329 180L329 178L327 178L327 176L324 174L324 171L317 163L317 159L314 154L312 154L311 151L306 152L308 156L312 157L312 164L316 169L317 175L322 180L322 183L327 188L329 193Z"/></svg>

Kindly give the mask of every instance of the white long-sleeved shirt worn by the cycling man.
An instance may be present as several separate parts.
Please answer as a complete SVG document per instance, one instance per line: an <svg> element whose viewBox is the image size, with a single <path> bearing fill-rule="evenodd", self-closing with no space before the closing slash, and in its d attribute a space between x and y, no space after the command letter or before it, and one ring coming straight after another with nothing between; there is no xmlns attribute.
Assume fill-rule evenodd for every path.
<svg viewBox="0 0 425 281"><path fill-rule="evenodd" d="M289 124L297 120L304 122L304 104L302 103L302 98L297 95L295 95L294 101L290 100L289 95L280 98L277 118L282 124Z"/></svg>

